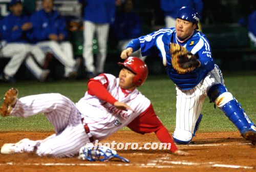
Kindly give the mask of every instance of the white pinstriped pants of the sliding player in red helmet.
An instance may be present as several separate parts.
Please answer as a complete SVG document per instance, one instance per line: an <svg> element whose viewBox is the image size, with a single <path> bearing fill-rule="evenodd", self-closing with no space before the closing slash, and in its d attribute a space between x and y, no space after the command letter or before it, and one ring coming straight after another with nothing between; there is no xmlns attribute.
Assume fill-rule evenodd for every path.
<svg viewBox="0 0 256 172"><path fill-rule="evenodd" d="M25 152L27 149L31 150L31 146L37 146L36 154L39 156L73 157L79 153L80 147L90 142L75 104L61 94L22 97L17 99L11 111L11 115L17 117L29 117L39 113L46 115L56 134L44 140L31 141L30 147L25 147Z"/></svg>

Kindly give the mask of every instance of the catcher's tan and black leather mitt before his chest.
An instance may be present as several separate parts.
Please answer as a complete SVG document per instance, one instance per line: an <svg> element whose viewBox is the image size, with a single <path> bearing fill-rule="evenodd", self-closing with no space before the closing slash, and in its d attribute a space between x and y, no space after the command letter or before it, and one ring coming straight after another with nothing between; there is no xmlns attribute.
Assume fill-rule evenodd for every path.
<svg viewBox="0 0 256 172"><path fill-rule="evenodd" d="M170 44L170 54L172 55L173 68L179 74L191 72L200 64L194 54L188 52L186 48L178 44Z"/></svg>

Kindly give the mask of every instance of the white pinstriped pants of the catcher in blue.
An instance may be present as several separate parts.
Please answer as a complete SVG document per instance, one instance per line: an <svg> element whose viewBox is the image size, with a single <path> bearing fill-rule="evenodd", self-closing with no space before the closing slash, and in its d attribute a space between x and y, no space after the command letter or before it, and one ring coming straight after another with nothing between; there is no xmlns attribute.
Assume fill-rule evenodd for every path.
<svg viewBox="0 0 256 172"><path fill-rule="evenodd" d="M176 128L175 130L185 130L194 132L195 124L201 113L207 91L216 83L222 83L221 70L216 65L207 76L193 89L181 90L176 87Z"/></svg>

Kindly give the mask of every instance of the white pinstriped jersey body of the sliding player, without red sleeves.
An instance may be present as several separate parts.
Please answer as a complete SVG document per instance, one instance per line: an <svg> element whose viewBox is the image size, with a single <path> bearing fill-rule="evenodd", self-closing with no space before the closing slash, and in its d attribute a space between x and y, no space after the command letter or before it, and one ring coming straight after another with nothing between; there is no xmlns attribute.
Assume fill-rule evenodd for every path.
<svg viewBox="0 0 256 172"><path fill-rule="evenodd" d="M111 74L97 76L94 79L99 80L103 85L106 84L106 89L116 100L126 103L134 111L118 110L114 105L86 92L84 97L76 103L76 107L88 124L95 140L102 140L120 130L143 113L151 104L150 100L137 89L130 94L123 93L119 87L119 78Z"/></svg>

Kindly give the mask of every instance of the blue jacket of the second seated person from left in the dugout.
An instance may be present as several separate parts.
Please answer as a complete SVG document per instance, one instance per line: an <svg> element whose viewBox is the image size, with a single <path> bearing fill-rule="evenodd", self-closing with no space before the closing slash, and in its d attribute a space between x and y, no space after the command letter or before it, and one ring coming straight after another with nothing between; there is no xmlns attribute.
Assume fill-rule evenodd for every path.
<svg viewBox="0 0 256 172"><path fill-rule="evenodd" d="M49 40L50 34L63 34L67 38L66 21L57 11L46 13L41 9L31 16L31 22L35 41Z"/></svg>

